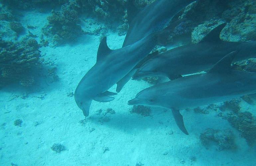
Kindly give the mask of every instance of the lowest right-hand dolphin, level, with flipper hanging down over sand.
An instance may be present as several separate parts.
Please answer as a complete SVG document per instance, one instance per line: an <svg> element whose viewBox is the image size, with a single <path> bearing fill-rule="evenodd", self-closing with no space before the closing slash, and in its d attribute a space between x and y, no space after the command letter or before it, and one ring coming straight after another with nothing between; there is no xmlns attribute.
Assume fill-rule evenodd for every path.
<svg viewBox="0 0 256 166"><path fill-rule="evenodd" d="M180 109L227 101L256 92L256 73L231 70L233 51L205 74L181 77L140 91L129 105L171 109L178 127L188 134Z"/></svg>

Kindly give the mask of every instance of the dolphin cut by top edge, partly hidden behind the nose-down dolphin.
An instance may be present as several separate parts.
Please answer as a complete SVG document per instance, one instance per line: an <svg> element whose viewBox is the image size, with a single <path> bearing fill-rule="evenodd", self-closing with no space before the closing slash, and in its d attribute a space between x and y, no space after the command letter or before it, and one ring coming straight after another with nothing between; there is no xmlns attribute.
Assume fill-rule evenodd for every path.
<svg viewBox="0 0 256 166"><path fill-rule="evenodd" d="M137 10L128 0L127 14L129 30L124 39L123 47L132 44L155 31L164 30L171 19L184 7L195 0L156 0L142 10ZM129 81L137 70L133 68L123 79L117 83L116 91L120 92L122 87Z"/></svg>

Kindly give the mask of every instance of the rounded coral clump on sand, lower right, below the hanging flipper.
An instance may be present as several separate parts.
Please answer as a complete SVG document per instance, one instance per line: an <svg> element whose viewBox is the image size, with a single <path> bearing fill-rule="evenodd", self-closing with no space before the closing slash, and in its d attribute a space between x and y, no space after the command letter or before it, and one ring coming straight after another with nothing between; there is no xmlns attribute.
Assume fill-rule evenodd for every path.
<svg viewBox="0 0 256 166"><path fill-rule="evenodd" d="M200 134L200 141L207 149L210 146L216 146L217 151L236 148L234 136L230 130L207 128Z"/></svg>

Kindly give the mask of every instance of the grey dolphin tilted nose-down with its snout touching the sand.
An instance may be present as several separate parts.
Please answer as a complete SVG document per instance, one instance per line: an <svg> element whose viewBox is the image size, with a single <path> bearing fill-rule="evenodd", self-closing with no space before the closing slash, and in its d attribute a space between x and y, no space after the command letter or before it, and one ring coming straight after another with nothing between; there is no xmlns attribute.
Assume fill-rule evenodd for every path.
<svg viewBox="0 0 256 166"><path fill-rule="evenodd" d="M152 33L126 47L111 50L106 37L100 42L95 65L76 87L74 98L84 116L89 115L91 101L109 102L116 93L107 91L126 75L157 44L158 33Z"/></svg>

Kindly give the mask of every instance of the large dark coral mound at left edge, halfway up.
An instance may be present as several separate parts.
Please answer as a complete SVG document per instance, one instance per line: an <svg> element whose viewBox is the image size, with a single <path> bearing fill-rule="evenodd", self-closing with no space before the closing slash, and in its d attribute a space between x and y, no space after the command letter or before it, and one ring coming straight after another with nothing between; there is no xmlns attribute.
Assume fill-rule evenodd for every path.
<svg viewBox="0 0 256 166"><path fill-rule="evenodd" d="M30 86L35 82L35 72L40 67L38 48L34 39L11 42L0 38L0 87L15 82Z"/></svg>

